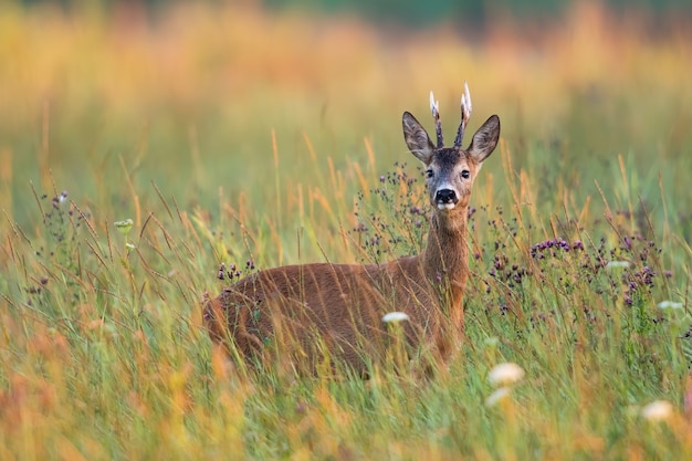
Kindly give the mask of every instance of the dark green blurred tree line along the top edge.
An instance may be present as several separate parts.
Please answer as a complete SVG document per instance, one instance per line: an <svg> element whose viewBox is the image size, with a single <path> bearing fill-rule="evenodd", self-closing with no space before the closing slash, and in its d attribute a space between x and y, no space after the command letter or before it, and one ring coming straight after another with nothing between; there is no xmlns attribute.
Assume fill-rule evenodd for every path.
<svg viewBox="0 0 692 461"><path fill-rule="evenodd" d="M156 13L176 3L191 0L17 0L25 6L57 3L65 10L101 3L105 9L136 6ZM228 0L199 0L209 4ZM496 13L522 18L551 18L562 14L574 2L585 0L245 0L270 10L308 10L321 13L350 13L376 22L426 25L448 20L482 25ZM614 12L636 9L653 15L692 15L691 0L586 0L597 1ZM232 2L230 2L232 3Z"/></svg>

